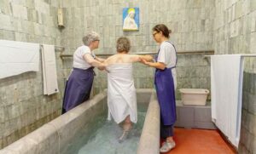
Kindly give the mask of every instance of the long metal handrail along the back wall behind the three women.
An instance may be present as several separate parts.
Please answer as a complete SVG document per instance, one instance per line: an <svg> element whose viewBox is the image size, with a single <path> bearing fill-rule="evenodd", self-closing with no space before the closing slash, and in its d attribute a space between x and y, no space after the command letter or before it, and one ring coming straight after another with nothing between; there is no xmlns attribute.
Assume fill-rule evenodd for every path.
<svg viewBox="0 0 256 154"><path fill-rule="evenodd" d="M138 52L129 54L157 54L156 52ZM177 54L214 54L214 50L178 51ZM96 54L96 56L111 56L113 54ZM73 54L61 54L62 58L73 57Z"/></svg>

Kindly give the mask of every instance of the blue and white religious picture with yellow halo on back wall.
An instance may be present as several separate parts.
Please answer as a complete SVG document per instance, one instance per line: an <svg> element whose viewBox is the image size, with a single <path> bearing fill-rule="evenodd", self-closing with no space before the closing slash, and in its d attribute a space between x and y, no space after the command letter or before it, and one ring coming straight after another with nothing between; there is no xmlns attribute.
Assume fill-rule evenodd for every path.
<svg viewBox="0 0 256 154"><path fill-rule="evenodd" d="M123 31L137 31L139 28L139 9L123 9Z"/></svg>

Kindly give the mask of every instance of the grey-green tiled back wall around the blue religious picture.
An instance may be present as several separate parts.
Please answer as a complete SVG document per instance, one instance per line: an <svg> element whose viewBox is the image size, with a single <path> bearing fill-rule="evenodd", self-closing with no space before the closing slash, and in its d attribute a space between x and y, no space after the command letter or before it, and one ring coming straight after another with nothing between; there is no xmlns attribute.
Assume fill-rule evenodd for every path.
<svg viewBox="0 0 256 154"><path fill-rule="evenodd" d="M88 31L97 31L101 36L96 54L115 54L115 42L125 36L131 40L131 53L157 52L158 45L152 37L152 27L164 23L172 29L171 41L177 51L211 50L213 39L213 0L87 0L63 1L65 29L61 32L61 43L66 54L73 54L82 44L82 37ZM140 9L139 31L122 30L122 9ZM72 60L65 59L65 75L70 72ZM200 73L202 69L205 73ZM107 88L106 72L96 71L94 94ZM134 65L137 88L153 88L154 69L141 64ZM210 88L209 65L201 55L179 55L177 62L177 88ZM178 92L178 91L177 91ZM177 93L177 98L179 94Z"/></svg>

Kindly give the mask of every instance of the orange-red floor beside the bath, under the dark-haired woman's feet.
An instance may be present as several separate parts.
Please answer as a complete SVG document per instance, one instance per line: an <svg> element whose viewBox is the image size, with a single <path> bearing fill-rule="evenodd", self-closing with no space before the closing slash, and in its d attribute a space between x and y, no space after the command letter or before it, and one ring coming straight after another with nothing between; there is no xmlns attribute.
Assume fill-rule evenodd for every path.
<svg viewBox="0 0 256 154"><path fill-rule="evenodd" d="M235 154L217 130L174 128L176 147L167 154Z"/></svg>

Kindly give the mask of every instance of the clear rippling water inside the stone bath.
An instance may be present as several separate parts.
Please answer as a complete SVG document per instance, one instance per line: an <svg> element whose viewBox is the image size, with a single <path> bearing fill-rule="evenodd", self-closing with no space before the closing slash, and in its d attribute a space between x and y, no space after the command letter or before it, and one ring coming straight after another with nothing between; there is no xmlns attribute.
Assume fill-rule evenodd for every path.
<svg viewBox="0 0 256 154"><path fill-rule="evenodd" d="M138 104L137 123L133 125L128 138L119 143L118 138L122 134L122 129L114 123L106 120L107 115L98 117L94 126L94 131L90 136L80 136L75 149L68 153L78 154L132 154L136 153L143 123L146 116L147 107ZM100 126L100 127L99 127ZM95 128L98 127L98 128ZM66 152L65 152L66 153Z"/></svg>

